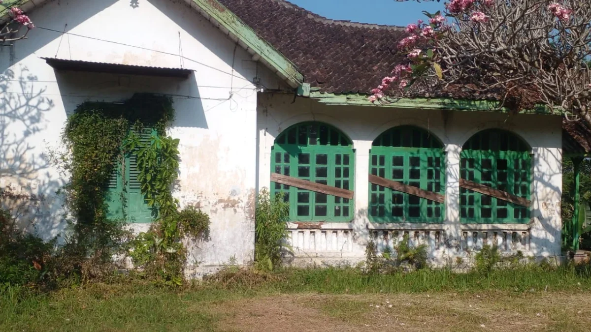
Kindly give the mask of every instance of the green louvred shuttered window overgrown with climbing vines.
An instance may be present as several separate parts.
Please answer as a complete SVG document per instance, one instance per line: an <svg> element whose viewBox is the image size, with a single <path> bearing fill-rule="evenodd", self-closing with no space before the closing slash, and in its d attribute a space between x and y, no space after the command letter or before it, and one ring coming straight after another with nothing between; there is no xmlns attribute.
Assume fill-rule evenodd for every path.
<svg viewBox="0 0 591 332"><path fill-rule="evenodd" d="M155 128L143 128L141 131L130 129L139 136L139 141L149 144L152 136L157 136ZM123 220L128 223L151 223L152 209L145 201L138 181L138 165L135 154L125 154L122 161L118 161L106 185L105 201L107 217Z"/></svg>

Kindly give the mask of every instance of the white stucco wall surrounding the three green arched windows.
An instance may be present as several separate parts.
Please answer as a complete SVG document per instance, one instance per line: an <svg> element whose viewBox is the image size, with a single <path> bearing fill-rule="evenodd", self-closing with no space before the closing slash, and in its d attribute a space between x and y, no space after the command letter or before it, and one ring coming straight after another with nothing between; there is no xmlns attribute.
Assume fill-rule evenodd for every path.
<svg viewBox="0 0 591 332"><path fill-rule="evenodd" d="M508 115L493 112L460 112L395 109L368 106L327 106L316 100L280 94L259 96L259 187L269 187L271 147L284 129L303 121L322 121L342 130L353 141L355 162L355 213L351 223L324 223L321 229L291 225L294 260L307 263L352 263L363 259L370 232L379 246L390 247L408 232L413 242L430 245L431 262L469 258L473 250L493 241L505 251L526 255L560 255L561 119L548 115ZM416 125L436 135L447 153L446 218L443 224L374 224L367 217L369 149L385 130ZM459 155L462 145L476 132L501 128L521 136L532 147L532 223L527 225L460 224ZM397 232L397 233L396 233ZM495 234L496 233L496 234Z"/></svg>

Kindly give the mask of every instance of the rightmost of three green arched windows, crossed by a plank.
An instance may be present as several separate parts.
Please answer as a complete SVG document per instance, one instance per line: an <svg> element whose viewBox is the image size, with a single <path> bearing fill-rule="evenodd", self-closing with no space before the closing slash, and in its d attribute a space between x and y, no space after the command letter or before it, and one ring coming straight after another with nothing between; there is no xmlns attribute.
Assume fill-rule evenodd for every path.
<svg viewBox="0 0 591 332"><path fill-rule="evenodd" d="M463 223L527 223L530 220L530 147L517 135L487 129L472 136L460 161Z"/></svg>

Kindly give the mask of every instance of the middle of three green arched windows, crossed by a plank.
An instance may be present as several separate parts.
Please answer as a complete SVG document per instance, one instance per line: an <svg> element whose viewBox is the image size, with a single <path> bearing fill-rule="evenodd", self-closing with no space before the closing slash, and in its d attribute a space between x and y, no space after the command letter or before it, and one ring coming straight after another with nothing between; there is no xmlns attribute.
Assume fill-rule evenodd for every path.
<svg viewBox="0 0 591 332"><path fill-rule="evenodd" d="M372 144L369 168L374 175L369 183L369 220L443 222L443 144L430 132L415 126L388 129ZM411 194L416 190L409 187L420 190Z"/></svg>

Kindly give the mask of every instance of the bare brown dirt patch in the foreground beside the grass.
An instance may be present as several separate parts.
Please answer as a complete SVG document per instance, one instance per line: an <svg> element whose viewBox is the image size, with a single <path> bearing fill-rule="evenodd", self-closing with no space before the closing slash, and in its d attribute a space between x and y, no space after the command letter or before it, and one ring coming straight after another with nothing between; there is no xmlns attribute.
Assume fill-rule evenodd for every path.
<svg viewBox="0 0 591 332"><path fill-rule="evenodd" d="M212 304L221 331L591 331L591 295L278 295Z"/></svg>

